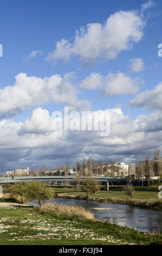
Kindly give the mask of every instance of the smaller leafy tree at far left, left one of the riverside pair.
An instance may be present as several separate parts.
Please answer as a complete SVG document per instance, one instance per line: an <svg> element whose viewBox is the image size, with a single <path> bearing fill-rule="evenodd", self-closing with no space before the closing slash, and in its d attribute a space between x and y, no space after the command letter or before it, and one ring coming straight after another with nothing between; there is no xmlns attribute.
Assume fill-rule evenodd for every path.
<svg viewBox="0 0 162 256"><path fill-rule="evenodd" d="M8 191L10 192L11 196L20 196L21 204L24 203L24 197L26 197L27 192L27 181L22 182L15 182L14 185L8 186Z"/></svg>

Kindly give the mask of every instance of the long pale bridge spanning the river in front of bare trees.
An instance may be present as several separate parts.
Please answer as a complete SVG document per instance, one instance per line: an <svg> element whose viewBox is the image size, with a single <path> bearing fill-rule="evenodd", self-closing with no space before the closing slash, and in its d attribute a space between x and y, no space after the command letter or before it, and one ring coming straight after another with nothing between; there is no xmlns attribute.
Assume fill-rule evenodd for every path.
<svg viewBox="0 0 162 256"><path fill-rule="evenodd" d="M129 182L129 178L128 177L111 177L111 176L92 176L92 179L94 179L95 181L99 181L99 182L104 182L105 184L105 190L109 190L109 182L113 183L113 184L123 184L123 185L127 185ZM79 177L80 180L84 180L86 179L86 176L80 176ZM14 176L12 177L0 177L0 184L6 184L6 183L14 183L14 182L18 182L18 181L49 181L49 182L58 182L58 181L69 181L69 182L74 182L77 181L76 176ZM148 181L153 181L154 179L138 179L138 178L133 178L131 179L131 183L133 184L137 184L139 181L140 182L148 182ZM145 183L146 184L146 183Z"/></svg>

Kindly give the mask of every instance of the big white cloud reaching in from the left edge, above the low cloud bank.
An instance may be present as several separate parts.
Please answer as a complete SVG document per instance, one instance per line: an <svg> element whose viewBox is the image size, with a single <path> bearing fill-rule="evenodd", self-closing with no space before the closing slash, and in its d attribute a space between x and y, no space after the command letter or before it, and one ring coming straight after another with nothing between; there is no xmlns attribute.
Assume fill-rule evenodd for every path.
<svg viewBox="0 0 162 256"><path fill-rule="evenodd" d="M15 113L47 102L67 104L71 109L89 109L89 101L78 100L71 84L72 77L72 73L63 78L59 75L40 78L18 74L14 86L0 89L0 114Z"/></svg>

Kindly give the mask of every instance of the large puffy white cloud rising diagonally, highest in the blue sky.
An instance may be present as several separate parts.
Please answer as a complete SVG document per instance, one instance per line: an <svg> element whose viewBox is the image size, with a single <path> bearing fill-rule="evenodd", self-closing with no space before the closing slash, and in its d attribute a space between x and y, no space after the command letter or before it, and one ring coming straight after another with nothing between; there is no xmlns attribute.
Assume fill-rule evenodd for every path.
<svg viewBox="0 0 162 256"><path fill-rule="evenodd" d="M73 42L61 39L47 59L68 61L78 56L85 63L98 58L115 59L123 50L131 50L141 40L145 21L135 11L117 11L107 22L89 23L74 35Z"/></svg>

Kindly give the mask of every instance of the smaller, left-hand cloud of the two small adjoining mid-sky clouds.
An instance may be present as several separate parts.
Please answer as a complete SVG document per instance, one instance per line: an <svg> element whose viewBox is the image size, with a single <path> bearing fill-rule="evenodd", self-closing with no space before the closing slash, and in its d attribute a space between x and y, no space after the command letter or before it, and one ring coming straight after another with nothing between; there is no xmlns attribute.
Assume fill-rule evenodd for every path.
<svg viewBox="0 0 162 256"><path fill-rule="evenodd" d="M102 78L103 76L92 72L90 76L87 76L80 84L79 87L84 90L95 90L102 88Z"/></svg>

